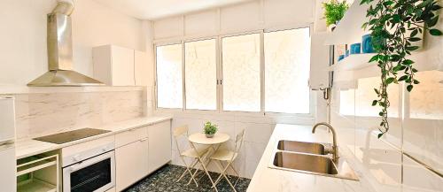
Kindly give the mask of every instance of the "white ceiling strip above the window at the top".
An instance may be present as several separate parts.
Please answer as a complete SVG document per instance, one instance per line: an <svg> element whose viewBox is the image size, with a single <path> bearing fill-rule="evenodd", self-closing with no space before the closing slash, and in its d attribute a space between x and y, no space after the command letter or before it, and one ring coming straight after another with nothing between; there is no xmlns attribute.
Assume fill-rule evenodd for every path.
<svg viewBox="0 0 443 192"><path fill-rule="evenodd" d="M160 19L251 0L94 0L137 19Z"/></svg>

